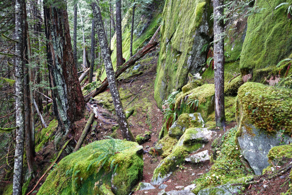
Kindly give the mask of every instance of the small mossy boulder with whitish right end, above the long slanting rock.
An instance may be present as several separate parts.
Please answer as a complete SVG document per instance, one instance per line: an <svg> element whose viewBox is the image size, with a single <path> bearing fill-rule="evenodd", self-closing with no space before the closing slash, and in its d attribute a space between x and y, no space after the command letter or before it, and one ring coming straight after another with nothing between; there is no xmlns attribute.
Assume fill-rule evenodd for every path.
<svg viewBox="0 0 292 195"><path fill-rule="evenodd" d="M180 138L186 129L191 127L204 127L204 120L200 113L182 114L168 130L170 137Z"/></svg>

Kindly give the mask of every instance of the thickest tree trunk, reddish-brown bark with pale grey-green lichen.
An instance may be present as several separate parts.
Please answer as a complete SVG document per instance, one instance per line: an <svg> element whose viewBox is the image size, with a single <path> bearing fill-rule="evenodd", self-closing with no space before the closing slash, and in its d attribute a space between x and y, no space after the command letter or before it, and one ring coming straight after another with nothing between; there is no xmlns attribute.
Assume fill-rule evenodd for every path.
<svg viewBox="0 0 292 195"><path fill-rule="evenodd" d="M61 8L44 6L44 21L49 80L59 127L55 135L58 148L62 135L67 134L73 122L83 116L85 101L74 65L67 5Z"/></svg>

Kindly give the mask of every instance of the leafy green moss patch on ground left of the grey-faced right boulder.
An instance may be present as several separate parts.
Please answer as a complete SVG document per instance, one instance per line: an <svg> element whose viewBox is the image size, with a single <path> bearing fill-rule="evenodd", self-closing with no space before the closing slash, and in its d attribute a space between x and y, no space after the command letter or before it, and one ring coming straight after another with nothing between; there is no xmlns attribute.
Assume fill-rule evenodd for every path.
<svg viewBox="0 0 292 195"><path fill-rule="evenodd" d="M247 170L240 160L240 151L235 144L235 132L237 127L227 130L223 136L217 139L215 144L216 156L213 157L213 165L209 172L194 180L200 189L222 185L231 180L247 176ZM230 171L226 171L226 169ZM200 190L200 189L197 189Z"/></svg>

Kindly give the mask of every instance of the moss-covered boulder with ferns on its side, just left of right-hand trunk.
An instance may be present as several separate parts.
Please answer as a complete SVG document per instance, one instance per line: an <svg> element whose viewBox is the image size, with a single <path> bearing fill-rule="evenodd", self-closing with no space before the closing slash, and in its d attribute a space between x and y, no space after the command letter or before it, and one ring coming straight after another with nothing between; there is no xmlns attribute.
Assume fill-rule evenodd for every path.
<svg viewBox="0 0 292 195"><path fill-rule="evenodd" d="M197 102L198 101L198 102ZM176 95L175 111L180 116L183 113L201 113L206 121L208 115L215 109L215 86L204 84L186 93Z"/></svg>

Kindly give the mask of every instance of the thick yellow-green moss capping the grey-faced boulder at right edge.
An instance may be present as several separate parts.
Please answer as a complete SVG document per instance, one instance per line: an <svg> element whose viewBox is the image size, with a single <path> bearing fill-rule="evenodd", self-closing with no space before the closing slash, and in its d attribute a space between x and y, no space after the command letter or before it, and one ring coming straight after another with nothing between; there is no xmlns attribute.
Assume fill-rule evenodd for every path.
<svg viewBox="0 0 292 195"><path fill-rule="evenodd" d="M244 115L245 120L257 128L276 132L284 129L291 134L292 110L286 101L284 89L260 83L246 82L238 90L236 102L237 119Z"/></svg>

